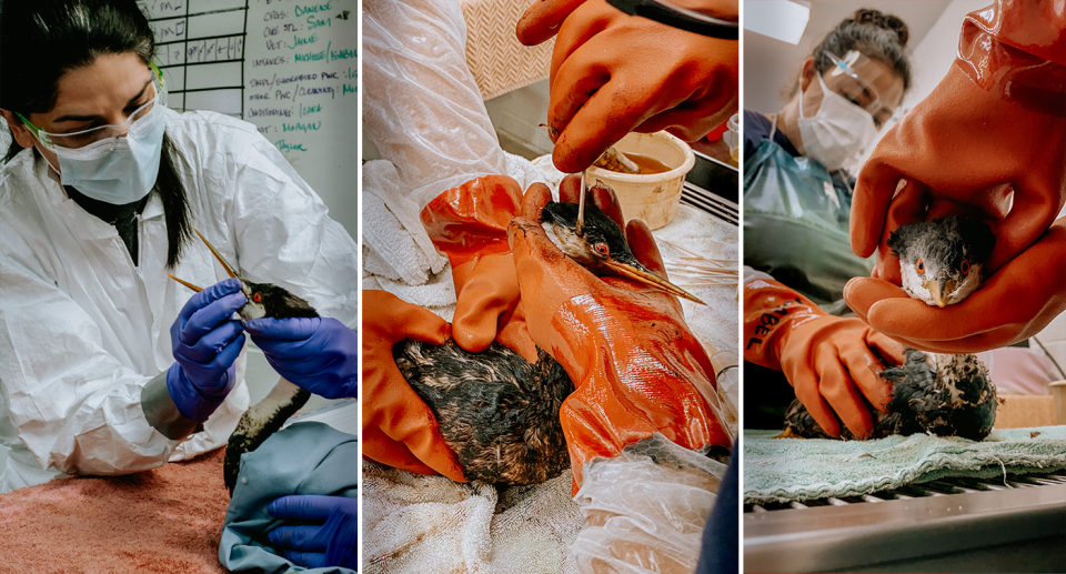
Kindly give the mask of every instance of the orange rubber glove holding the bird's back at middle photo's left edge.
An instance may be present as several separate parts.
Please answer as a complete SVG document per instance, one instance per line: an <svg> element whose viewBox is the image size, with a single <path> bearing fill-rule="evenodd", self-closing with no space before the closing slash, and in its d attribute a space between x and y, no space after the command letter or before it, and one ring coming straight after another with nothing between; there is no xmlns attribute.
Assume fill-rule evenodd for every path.
<svg viewBox="0 0 1066 574"><path fill-rule="evenodd" d="M363 456L420 474L466 482L436 417L400 374L392 346L412 339L444 344L449 325L385 291L363 291Z"/></svg>

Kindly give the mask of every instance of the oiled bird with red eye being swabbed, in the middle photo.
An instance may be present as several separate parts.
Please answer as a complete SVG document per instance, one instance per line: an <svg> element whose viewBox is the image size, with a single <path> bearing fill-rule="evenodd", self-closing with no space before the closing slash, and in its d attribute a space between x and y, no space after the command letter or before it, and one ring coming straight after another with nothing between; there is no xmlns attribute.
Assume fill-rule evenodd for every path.
<svg viewBox="0 0 1066 574"><path fill-rule="evenodd" d="M596 275L623 275L698 301L642 265L622 229L591 203L581 234L575 204L549 203L541 224L552 242ZM530 363L495 342L471 353L451 340L443 345L403 341L393 355L436 416L467 479L535 484L570 467L559 411L574 385L544 350L537 349L536 362Z"/></svg>

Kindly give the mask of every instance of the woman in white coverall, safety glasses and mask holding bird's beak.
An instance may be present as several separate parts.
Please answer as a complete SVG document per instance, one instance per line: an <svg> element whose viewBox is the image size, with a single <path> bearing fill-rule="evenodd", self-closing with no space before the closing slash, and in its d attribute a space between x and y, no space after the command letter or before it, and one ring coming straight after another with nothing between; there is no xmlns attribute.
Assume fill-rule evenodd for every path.
<svg viewBox="0 0 1066 574"><path fill-rule="evenodd" d="M292 344L351 336L354 355L351 236L254 125L169 110L154 50L134 0L0 3L0 492L225 444L245 295L193 229L333 318Z"/></svg>

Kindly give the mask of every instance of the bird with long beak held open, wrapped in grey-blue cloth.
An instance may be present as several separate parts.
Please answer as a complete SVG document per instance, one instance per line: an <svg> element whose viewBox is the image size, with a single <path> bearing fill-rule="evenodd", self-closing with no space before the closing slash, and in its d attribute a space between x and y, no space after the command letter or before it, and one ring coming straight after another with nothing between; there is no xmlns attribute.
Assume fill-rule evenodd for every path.
<svg viewBox="0 0 1066 574"><path fill-rule="evenodd" d="M195 231L195 230L193 230ZM240 276L237 271L225 261L225 258L219 253L203 235L197 231L197 235L208 245L211 253L219 261L225 272L231 278L241 281L241 291L248 302L237 311L242 321L251 321L264 316L274 319L290 318L314 318L319 316L306 301L290 293L288 290L270 283L253 283ZM188 286L193 291L201 289L187 281L182 281L173 275L171 279ZM225 445L225 457L222 463L222 474L225 480L225 487L233 494L237 486L237 476L241 471L241 455L259 449L259 445L278 432L290 416L296 413L311 399L311 393L290 383L285 379L278 381L278 384L260 402L252 405L241 415L237 423L237 429L230 434Z"/></svg>

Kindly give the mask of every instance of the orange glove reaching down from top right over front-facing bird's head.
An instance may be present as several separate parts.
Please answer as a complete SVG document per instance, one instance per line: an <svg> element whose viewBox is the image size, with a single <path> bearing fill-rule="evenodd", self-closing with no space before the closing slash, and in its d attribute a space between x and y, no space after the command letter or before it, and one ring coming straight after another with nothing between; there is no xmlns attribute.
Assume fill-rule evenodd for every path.
<svg viewBox="0 0 1066 574"><path fill-rule="evenodd" d="M899 263L886 243L891 231L913 221L969 215L993 226L996 248L986 270L995 273L1030 249L1055 221L1066 202L1064 159L1066 6L1062 0L998 0L992 10L966 18L955 64L885 134L863 167L852 202L852 249L864 258L876 251L873 276L898 285ZM863 306L859 300L868 309L873 298L888 293L872 282L856 282L848 291L853 309ZM973 313L977 306L971 305L966 301L956 306ZM1006 321L996 310L987 311L992 316L982 319ZM1023 325L1047 324L1054 318L1050 308L1030 305L1029 311L1028 318L1012 318ZM990 329L993 323L983 324ZM894 332L923 339L927 328L926 322L897 322ZM977 334L955 332L958 340ZM1016 342L988 342L993 339L997 345ZM988 348L959 341L953 349Z"/></svg>

